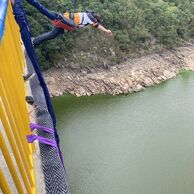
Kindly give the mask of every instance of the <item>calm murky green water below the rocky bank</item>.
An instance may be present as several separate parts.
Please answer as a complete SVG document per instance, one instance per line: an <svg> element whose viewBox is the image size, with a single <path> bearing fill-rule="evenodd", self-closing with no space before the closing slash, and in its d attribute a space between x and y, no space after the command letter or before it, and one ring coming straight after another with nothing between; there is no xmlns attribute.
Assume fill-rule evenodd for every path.
<svg viewBox="0 0 194 194"><path fill-rule="evenodd" d="M53 103L72 194L194 193L194 73Z"/></svg>

